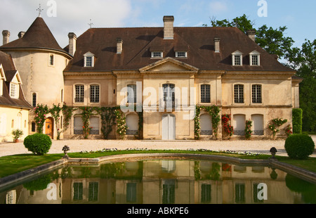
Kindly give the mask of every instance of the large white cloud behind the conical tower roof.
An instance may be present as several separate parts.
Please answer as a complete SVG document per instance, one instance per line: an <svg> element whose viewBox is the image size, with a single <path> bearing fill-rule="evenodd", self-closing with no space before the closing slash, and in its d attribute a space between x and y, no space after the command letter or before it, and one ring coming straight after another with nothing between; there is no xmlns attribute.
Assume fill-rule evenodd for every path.
<svg viewBox="0 0 316 218"><path fill-rule="evenodd" d="M132 0L53 0L57 16L48 17L48 0L1 0L1 30L11 32L11 41L18 38L18 32L26 31L37 18L36 11L41 4L41 17L53 32L60 46L68 43L68 32L80 34L88 30L92 19L93 27L122 27L132 11Z"/></svg>

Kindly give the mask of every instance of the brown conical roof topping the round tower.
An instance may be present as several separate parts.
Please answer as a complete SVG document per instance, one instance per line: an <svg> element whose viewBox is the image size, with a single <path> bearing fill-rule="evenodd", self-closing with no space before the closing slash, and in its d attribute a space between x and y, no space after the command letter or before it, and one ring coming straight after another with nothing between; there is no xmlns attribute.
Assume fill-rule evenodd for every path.
<svg viewBox="0 0 316 218"><path fill-rule="evenodd" d="M67 53L62 49L43 18L34 20L24 36L0 47L1 49L51 49Z"/></svg>

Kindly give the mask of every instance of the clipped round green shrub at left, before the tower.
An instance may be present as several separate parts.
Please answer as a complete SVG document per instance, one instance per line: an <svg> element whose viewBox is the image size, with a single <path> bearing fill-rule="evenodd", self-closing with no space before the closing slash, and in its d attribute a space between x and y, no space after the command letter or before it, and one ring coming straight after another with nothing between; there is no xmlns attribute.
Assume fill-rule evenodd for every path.
<svg viewBox="0 0 316 218"><path fill-rule="evenodd" d="M45 155L51 148L51 138L46 134L34 134L27 136L24 140L24 146L27 150L36 155Z"/></svg>

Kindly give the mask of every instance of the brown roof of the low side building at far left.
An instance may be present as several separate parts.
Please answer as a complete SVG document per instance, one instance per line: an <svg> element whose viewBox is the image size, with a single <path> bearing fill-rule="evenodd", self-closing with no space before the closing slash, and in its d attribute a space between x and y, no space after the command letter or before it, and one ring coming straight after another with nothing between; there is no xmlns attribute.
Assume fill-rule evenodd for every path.
<svg viewBox="0 0 316 218"><path fill-rule="evenodd" d="M13 65L13 60L10 55L0 51L0 65L2 65L4 69L4 74L6 76L6 82L3 84L3 91L2 96L0 96L0 105L1 106L11 106L11 107L17 107L17 108L32 108L29 103L25 100L22 86L20 86L20 94L19 98L11 98L10 96L10 82L12 81L13 77L18 72L15 70L15 67Z"/></svg>

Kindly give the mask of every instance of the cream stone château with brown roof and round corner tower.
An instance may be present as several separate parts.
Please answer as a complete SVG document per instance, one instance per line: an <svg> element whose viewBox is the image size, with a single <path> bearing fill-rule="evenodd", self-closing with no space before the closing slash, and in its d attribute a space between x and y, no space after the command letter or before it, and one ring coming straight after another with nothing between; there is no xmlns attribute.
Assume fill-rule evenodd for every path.
<svg viewBox="0 0 316 218"><path fill-rule="evenodd" d="M79 37L70 32L62 49L38 17L15 41L4 31L0 51L12 56L30 105L81 108L67 127L62 115L58 126L46 116L44 133L52 139L57 129L63 139L83 137L82 107L119 108L127 139L196 139L197 132L200 139L225 139L222 122L213 128L212 106L218 117L230 115L232 139L244 139L246 120L253 139L270 139L269 124L277 118L287 120L278 133L285 136L292 109L299 108L295 70L258 46L254 31L173 24L173 16L164 16L163 27L90 28ZM197 106L203 106L198 129ZM96 109L91 139L103 139L105 121ZM28 126L29 134L36 132L32 111ZM116 130L114 125L107 139L119 139Z"/></svg>

